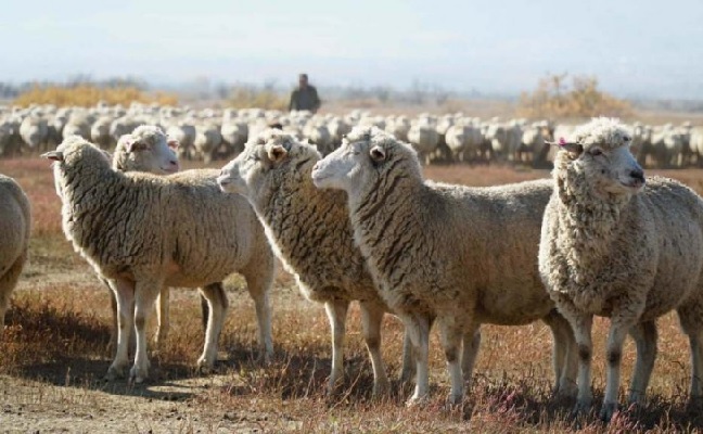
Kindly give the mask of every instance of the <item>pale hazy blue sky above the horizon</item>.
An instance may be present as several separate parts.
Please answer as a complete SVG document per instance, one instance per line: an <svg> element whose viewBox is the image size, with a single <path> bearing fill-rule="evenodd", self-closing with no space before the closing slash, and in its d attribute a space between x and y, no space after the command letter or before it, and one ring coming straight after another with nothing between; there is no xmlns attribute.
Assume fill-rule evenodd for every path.
<svg viewBox="0 0 703 434"><path fill-rule="evenodd" d="M514 93L546 73L703 99L703 0L5 1L0 80L138 76Z"/></svg>

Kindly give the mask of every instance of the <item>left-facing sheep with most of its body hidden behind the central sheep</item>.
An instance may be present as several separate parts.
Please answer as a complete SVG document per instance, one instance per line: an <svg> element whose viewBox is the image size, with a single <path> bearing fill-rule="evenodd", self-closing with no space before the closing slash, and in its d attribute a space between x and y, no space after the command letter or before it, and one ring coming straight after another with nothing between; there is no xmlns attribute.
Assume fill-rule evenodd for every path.
<svg viewBox="0 0 703 434"><path fill-rule="evenodd" d="M223 191L250 200L277 256L295 276L303 295L324 304L332 329L329 392L344 376L346 314L349 303L359 301L373 368L373 394L379 395L388 388L380 329L389 309L354 245L344 193L320 191L312 184L310 171L320 158L314 145L301 143L283 131L267 130L222 168L218 182ZM404 378L409 376L409 360L404 357Z"/></svg>

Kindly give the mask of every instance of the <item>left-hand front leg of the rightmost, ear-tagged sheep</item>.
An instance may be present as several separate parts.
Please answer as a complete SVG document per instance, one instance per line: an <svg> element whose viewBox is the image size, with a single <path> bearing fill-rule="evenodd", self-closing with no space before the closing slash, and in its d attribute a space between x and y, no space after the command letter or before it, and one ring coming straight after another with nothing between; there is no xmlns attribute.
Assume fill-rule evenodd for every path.
<svg viewBox="0 0 703 434"><path fill-rule="evenodd" d="M576 396L576 408L574 411L584 413L590 410L593 400L591 392L591 358L593 356L593 343L591 341L591 329L593 316L590 314L573 314L566 319L574 330L574 337L578 345L578 395Z"/></svg>

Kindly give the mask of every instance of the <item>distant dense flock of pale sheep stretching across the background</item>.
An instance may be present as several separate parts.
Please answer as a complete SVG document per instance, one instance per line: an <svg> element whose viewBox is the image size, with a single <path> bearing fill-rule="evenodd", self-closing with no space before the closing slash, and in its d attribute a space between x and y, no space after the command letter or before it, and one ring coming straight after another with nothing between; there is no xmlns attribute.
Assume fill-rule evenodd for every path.
<svg viewBox="0 0 703 434"><path fill-rule="evenodd" d="M373 116L354 111L344 116L283 113L260 108L201 111L189 107L144 105L129 107L99 104L93 107L36 105L27 108L0 106L0 156L12 156L55 148L77 135L103 149L140 125L157 125L180 143L182 158L230 158L250 138L276 126L297 140L305 140L327 155L342 143L355 126L375 126L396 139L412 144L423 164L508 163L549 166L553 150L545 140L565 137L571 125L550 120L480 119L462 113L434 116ZM703 127L690 123L632 126L632 153L647 167L703 166Z"/></svg>

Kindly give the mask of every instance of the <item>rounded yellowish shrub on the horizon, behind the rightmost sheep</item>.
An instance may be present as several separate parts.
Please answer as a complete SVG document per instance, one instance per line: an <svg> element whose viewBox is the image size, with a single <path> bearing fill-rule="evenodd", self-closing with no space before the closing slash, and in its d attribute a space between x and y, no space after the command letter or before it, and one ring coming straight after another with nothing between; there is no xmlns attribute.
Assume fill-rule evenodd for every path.
<svg viewBox="0 0 703 434"><path fill-rule="evenodd" d="M540 78L537 89L521 94L519 115L552 119L632 115L629 102L598 89L598 78L574 76L568 86L567 77L562 74Z"/></svg>

